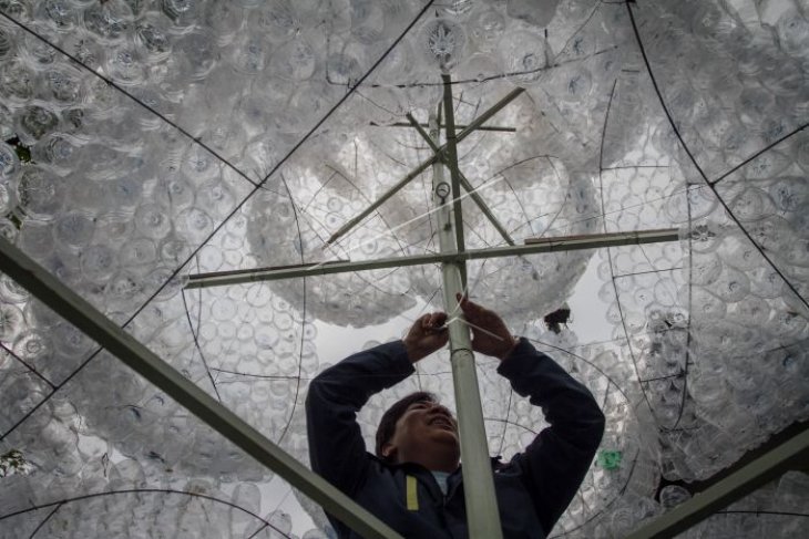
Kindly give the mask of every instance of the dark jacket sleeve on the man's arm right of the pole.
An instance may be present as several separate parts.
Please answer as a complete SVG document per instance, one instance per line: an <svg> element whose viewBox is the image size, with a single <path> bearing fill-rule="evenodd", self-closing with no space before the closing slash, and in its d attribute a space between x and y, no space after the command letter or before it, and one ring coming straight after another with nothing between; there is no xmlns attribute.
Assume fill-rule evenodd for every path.
<svg viewBox="0 0 809 539"><path fill-rule="evenodd" d="M551 426L514 457L550 533L578 490L602 435L604 414L587 388L526 340L498 367L512 388L541 406Z"/></svg>

